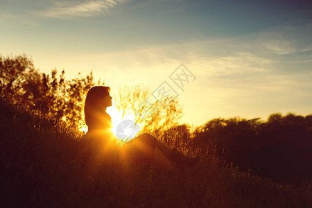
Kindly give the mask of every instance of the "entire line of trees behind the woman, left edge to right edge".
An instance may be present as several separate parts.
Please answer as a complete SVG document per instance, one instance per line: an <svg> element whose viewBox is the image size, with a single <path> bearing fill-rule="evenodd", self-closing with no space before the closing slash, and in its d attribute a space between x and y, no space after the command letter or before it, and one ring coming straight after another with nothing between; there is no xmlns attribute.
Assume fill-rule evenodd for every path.
<svg viewBox="0 0 312 208"><path fill-rule="evenodd" d="M80 128L84 123L83 105L87 91L96 85L90 72L86 77L78 73L68 80L64 70L51 74L35 69L26 55L0 55L0 96L9 98L49 118ZM97 85L104 85L100 80ZM144 111L141 103L150 92L144 87L121 86L115 95L116 107L122 112ZM240 170L270 177L279 182L302 182L312 175L312 115L271 114L261 119L212 119L191 132L189 125L177 125L182 107L176 100L166 100L163 109L155 103L155 110L137 122L144 123L142 131L151 132L168 146L190 155L216 157L219 161Z"/></svg>

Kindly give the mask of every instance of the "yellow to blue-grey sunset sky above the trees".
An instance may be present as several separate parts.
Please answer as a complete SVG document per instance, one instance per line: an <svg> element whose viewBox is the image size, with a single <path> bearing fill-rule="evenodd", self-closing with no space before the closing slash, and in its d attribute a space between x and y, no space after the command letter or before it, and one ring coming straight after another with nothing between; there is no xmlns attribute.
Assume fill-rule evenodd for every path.
<svg viewBox="0 0 312 208"><path fill-rule="evenodd" d="M0 55L21 54L66 78L93 71L112 92L166 82L194 126L312 114L312 1L0 0Z"/></svg>

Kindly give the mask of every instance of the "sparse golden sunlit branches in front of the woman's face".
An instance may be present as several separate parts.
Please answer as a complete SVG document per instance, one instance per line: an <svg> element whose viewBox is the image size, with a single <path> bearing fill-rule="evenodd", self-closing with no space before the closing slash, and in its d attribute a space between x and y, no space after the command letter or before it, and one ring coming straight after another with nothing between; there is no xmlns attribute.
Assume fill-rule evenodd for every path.
<svg viewBox="0 0 312 208"><path fill-rule="evenodd" d="M123 112L135 114L135 121L144 124L141 132L150 132L156 136L164 130L173 128L182 116L182 107L177 99L164 98L162 101L150 103L148 88L121 85L115 97L116 107Z"/></svg>

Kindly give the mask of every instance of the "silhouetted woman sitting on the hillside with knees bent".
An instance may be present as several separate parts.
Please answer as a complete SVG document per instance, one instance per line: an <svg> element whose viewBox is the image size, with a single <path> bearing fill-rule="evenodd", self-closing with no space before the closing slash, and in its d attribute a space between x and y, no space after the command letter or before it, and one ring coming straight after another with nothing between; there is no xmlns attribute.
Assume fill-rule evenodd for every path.
<svg viewBox="0 0 312 208"><path fill-rule="evenodd" d="M89 89L85 99L85 122L88 126L86 137L97 153L111 155L125 152L128 156L132 155L136 161L152 161L163 169L173 168L172 163L181 168L198 162L198 157L185 157L148 133L135 137L119 149L116 146L116 136L112 133L111 117L106 112L106 108L110 106L112 106L110 87L96 86Z"/></svg>

